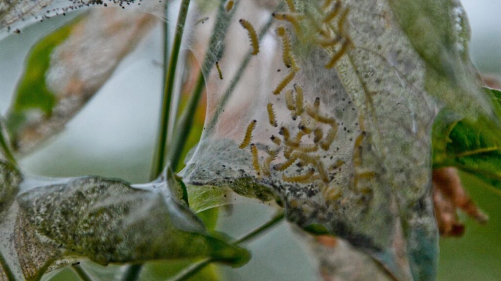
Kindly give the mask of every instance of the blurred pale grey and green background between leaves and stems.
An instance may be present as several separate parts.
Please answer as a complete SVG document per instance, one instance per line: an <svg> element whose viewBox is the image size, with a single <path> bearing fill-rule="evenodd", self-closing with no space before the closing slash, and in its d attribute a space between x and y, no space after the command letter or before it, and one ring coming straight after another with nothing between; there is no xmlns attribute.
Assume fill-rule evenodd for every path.
<svg viewBox="0 0 501 281"><path fill-rule="evenodd" d="M462 0L472 27L471 54L483 73L501 75L501 1ZM11 102L29 47L69 17L55 17L26 28L0 42L0 112ZM127 57L99 94L67 125L65 131L21 160L29 172L48 176L96 174L131 182L147 181L157 128L162 69L161 29ZM141 82L138 82L141 81ZM119 100L119 102L117 102ZM490 220L478 225L462 213L466 232L461 238L440 240L439 280L501 280L501 197L468 174L461 174L473 200ZM238 237L266 221L273 209L254 203L219 210L217 228ZM315 280L316 271L305 249L281 223L248 244L253 259L245 266L219 267L228 280ZM162 280L186 261L148 265L143 280ZM100 280L112 279L119 266L88 267ZM209 274L210 275L210 274ZM213 275L212 275L213 276ZM64 269L53 280L78 280Z"/></svg>

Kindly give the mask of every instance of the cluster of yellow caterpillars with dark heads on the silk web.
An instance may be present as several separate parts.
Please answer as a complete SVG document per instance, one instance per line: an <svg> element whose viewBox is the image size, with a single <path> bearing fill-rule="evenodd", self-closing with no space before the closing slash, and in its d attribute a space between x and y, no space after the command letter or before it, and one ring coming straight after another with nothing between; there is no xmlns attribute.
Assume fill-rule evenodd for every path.
<svg viewBox="0 0 501 281"><path fill-rule="evenodd" d="M292 40L303 40L307 38L306 36L311 36L312 34L303 32L302 29L304 26L308 26L308 23L313 23L317 31L314 34L316 38L313 42L330 54L330 59L325 67L334 67L351 46L351 39L346 31L349 8L343 7L341 0L325 0L323 7L313 4L314 7L317 5L316 12L303 14L296 7L294 0L285 0L285 2L290 13L274 12L272 16L278 21L285 22L286 25L290 24L292 26L291 30L294 31L290 34L286 25L279 25L276 29L276 34L281 40L282 61L285 67L289 68L289 72L276 85L272 93L277 96L279 101L285 102L285 108L289 110L290 117L297 123L297 127L281 125L278 135L272 134L270 137L274 148L268 147L268 155L260 158L258 147L256 144L250 143L252 131L256 125L256 120L253 120L248 124L239 147L244 148L250 144L252 165L258 177L279 173L284 182L314 183L325 199L333 200L341 195L340 187L333 180L333 174L339 171L345 161L338 159L335 163L329 161L327 162L328 165L326 165L325 153L319 151L331 149L338 133L339 124L333 116L322 111L320 97L308 100L306 98L308 95L304 92L306 88L304 89L299 82L295 81L301 67L296 61ZM305 7L311 8L309 5ZM312 18L313 16L320 17L320 20ZM259 52L259 41L254 27L244 19L240 19L240 24L247 29L253 47L252 54L257 54ZM285 92L284 98L279 97L282 92ZM283 107L279 106L279 108ZM268 102L267 111L269 124L272 127L278 127L279 122L274 110L274 104ZM299 120L297 120L298 118ZM359 149L361 145L362 135L360 134L355 141L357 147L355 150ZM282 151L283 156L279 154L280 151ZM265 151L261 151L261 153L265 153ZM353 159L355 165L360 162L357 157L360 156L355 151ZM332 159L332 156L330 159ZM275 161L278 163L272 165ZM360 175L370 178L373 172L361 171Z"/></svg>

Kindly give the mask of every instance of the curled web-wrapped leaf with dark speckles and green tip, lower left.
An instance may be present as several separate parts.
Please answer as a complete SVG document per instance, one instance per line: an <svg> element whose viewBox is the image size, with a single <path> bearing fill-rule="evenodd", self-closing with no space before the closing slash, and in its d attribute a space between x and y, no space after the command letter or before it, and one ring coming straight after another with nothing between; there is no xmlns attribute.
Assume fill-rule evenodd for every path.
<svg viewBox="0 0 501 281"><path fill-rule="evenodd" d="M246 250L210 235L171 192L166 183L131 186L100 177L31 188L17 197L17 264L25 278L38 279L67 263L66 256L103 265L211 257L239 266L248 260Z"/></svg>

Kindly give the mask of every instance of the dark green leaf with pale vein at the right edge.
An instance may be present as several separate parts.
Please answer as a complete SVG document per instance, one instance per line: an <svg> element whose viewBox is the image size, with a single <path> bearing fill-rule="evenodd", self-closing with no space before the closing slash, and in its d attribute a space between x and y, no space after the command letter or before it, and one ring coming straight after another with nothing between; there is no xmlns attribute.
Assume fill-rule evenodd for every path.
<svg viewBox="0 0 501 281"><path fill-rule="evenodd" d="M501 104L501 92L484 88ZM442 110L433 125L433 166L454 166L472 173L501 194L501 130L486 128L485 119L471 121Z"/></svg>

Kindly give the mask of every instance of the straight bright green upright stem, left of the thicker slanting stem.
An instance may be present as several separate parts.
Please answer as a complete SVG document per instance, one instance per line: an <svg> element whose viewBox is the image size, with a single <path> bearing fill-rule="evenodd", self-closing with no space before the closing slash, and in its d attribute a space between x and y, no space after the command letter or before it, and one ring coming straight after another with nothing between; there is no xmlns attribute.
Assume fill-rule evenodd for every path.
<svg viewBox="0 0 501 281"><path fill-rule="evenodd" d="M165 75L165 87L162 97L162 107L160 113L160 124L158 129L155 155L151 167L150 178L156 178L165 165L165 148L167 142L167 131L169 124L169 109L172 98L172 91L174 89L175 74L177 69L177 60L179 58L179 49L181 47L181 39L183 37L184 25L186 22L186 15L188 13L188 6L190 0L182 0L179 8L179 15L177 17L176 31L174 34L174 41L172 42L172 50L170 52L169 65L167 74ZM166 65L164 65L164 68Z"/></svg>

